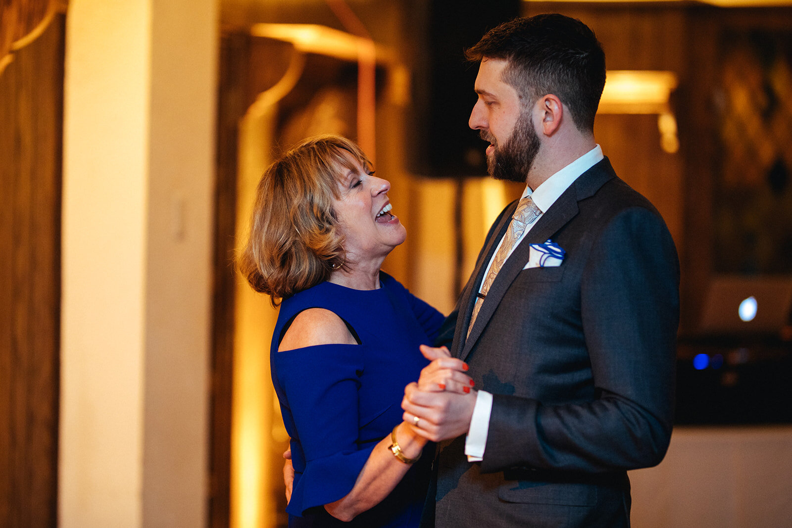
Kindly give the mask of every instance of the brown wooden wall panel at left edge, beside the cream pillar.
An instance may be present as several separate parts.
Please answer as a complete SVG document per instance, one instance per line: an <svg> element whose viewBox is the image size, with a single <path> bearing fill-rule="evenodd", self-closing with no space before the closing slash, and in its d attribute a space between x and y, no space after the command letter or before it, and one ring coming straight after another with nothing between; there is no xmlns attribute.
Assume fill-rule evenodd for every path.
<svg viewBox="0 0 792 528"><path fill-rule="evenodd" d="M63 15L0 75L0 526L55 526Z"/></svg>

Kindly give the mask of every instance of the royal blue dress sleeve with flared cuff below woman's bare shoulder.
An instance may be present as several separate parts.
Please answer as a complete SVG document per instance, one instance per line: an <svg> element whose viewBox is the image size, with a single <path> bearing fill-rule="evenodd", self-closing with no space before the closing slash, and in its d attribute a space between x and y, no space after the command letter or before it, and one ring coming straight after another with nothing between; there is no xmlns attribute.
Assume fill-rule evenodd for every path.
<svg viewBox="0 0 792 528"><path fill-rule="evenodd" d="M292 515L346 496L376 445L358 445L364 348L325 344L276 352L276 375L306 460L286 508Z"/></svg>

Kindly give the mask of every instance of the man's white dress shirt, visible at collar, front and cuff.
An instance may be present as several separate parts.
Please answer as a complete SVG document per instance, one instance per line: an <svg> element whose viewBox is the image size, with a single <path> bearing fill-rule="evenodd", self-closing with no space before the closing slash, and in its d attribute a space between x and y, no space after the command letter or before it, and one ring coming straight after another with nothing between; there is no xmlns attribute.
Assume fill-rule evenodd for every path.
<svg viewBox="0 0 792 528"><path fill-rule="evenodd" d="M543 215L545 211L550 209L550 206L555 203L558 196L561 196L564 191L569 188L569 185L571 185L574 180L577 180L577 177L602 161L603 158L602 148L597 145L586 154L583 154L580 158L577 158L575 161L559 170L558 173L547 178L544 183L539 185L532 193L531 188L526 185L523 196L520 196L520 198L531 196L536 207L539 207L539 211L542 211ZM542 215L539 215L539 218L541 218ZM536 218L535 222L529 224L525 228L520 239L518 239L512 247L512 251L523 241L525 235L531 230L531 227L535 226L536 222L539 222L539 218ZM485 277L487 273L489 273L489 268L493 264L494 256L497 254L497 250L501 247L502 243L503 238L498 242L498 247L495 248L493 252L493 258L489 260L489 264L487 264L487 268L482 276ZM511 254L512 253L509 252L509 255ZM481 291L481 285L479 285L479 291ZM467 455L468 462L478 462L482 460L484 456L484 448L487 444L487 433L489 431L489 415L492 413L492 408L492 394L484 390L479 390L476 396L473 416L470 418L470 429L468 429L465 439L465 454Z"/></svg>

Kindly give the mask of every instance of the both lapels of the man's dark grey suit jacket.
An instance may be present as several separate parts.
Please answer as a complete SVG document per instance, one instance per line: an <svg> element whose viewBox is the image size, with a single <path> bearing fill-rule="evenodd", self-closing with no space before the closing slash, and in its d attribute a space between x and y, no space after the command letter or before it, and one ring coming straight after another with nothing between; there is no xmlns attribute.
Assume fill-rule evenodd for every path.
<svg viewBox="0 0 792 528"><path fill-rule="evenodd" d="M597 189L602 187L602 185L607 181L610 180L612 177L615 177L615 173L613 172L613 168L611 167L610 161L607 158L604 158L603 161L600 161L596 165L594 165L591 169L588 169L585 173L581 174L580 177L577 178L562 193L561 196L550 206L550 209L547 210L539 220L536 221L535 226L531 228L530 231L525 235L525 238L520 241L520 244L512 251L512 254L508 257L503 268L501 271L498 272L497 277L493 282L492 287L489 288L489 293L485 298L484 303L482 304L482 309L478 312L478 317L476 317L476 322L473 325L473 328L470 329L470 336L464 341L464 346L462 348L461 354L459 354L460 359L466 359L468 355L470 355L470 351L472 350L476 340L478 337L482 335L482 331L485 329L489 319L495 313L497 306L501 303L501 299L505 295L508 287L511 286L516 276L523 271L523 267L528 261L528 256L531 251L531 244L542 243L549 238L553 237L554 234L558 232L567 222L569 222L572 218L577 215L579 211L577 207L577 202L581 199L588 198L592 196ZM508 215L508 221L511 220L513 210ZM497 240L501 240L503 236L502 232L505 230L505 226L501 226L501 230L499 230L499 236ZM494 238L494 237L493 237ZM494 246L497 244L493 244L493 241L489 242L490 245ZM489 248L487 254L487 258L483 260L483 264L479 263L478 268L485 268L486 264L489 262L489 259L492 257L493 248ZM470 290L475 292L478 291L477 287L481 284L482 278L481 275L483 274L483 270L479 270L477 268L477 275L476 280L470 286ZM466 292L466 294L470 295L470 292ZM472 294L472 297L475 298L475 293ZM473 311L473 302L471 298L467 298L466 304L462 305L465 307L465 317L463 317L463 328L464 332L467 330L467 325L470 325L470 315ZM457 335L455 335L455 340L459 339L459 325L457 325ZM464 334L461 335L464 339ZM460 343L462 341L459 341Z"/></svg>

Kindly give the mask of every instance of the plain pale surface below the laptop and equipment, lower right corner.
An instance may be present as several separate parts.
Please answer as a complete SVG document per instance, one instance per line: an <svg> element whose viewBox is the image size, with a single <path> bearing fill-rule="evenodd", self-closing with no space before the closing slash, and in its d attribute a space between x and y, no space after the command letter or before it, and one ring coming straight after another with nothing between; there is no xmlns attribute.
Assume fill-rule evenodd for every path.
<svg viewBox="0 0 792 528"><path fill-rule="evenodd" d="M635 528L788 528L792 426L676 427L663 462L630 471Z"/></svg>

